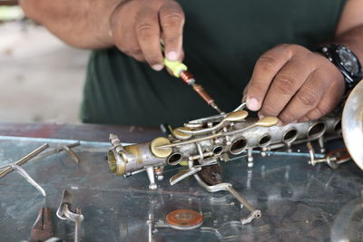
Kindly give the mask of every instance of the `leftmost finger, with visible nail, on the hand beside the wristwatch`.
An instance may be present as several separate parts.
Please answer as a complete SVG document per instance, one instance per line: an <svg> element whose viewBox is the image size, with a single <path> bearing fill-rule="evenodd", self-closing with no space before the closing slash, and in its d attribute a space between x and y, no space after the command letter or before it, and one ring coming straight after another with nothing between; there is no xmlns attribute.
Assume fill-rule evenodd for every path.
<svg viewBox="0 0 363 242"><path fill-rule="evenodd" d="M260 110L266 92L275 75L289 61L292 53L286 45L279 45L263 53L255 64L247 92L247 107L251 111Z"/></svg>

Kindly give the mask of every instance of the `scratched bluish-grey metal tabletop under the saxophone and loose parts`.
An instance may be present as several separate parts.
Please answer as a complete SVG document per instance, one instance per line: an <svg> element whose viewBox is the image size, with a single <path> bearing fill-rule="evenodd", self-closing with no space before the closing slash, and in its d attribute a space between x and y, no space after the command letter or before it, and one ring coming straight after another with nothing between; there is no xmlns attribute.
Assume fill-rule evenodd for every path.
<svg viewBox="0 0 363 242"><path fill-rule="evenodd" d="M43 142L3 137L0 166ZM225 181L262 212L262 218L240 226L233 221L247 212L240 210L234 198L225 192L209 194L192 178L170 187L167 179L175 170L165 174L157 192L147 190L144 173L127 179L113 177L104 160L107 147L106 143L83 143L75 149L81 158L79 166L64 153L25 164L44 187L46 198L14 172L0 179L0 241L27 239L42 206L54 210L55 235L72 241L73 224L55 216L63 189L74 194L74 208L83 209L83 241L147 241L149 214L159 220L177 208L201 211L202 227L215 232L159 228L154 241L362 241L363 172L353 163L337 170L324 165L312 168L303 155L276 154L256 156L250 171L244 158L223 164Z"/></svg>

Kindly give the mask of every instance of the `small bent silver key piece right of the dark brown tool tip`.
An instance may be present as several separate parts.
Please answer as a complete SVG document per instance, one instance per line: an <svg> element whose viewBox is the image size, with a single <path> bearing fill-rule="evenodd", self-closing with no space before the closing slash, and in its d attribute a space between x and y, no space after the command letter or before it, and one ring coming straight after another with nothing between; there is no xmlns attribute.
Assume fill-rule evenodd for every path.
<svg viewBox="0 0 363 242"><path fill-rule="evenodd" d="M74 198L72 194L64 189L61 204L56 212L58 218L74 222L74 242L81 241L81 222L83 221L83 214L81 208L75 208L72 211L72 204Z"/></svg>

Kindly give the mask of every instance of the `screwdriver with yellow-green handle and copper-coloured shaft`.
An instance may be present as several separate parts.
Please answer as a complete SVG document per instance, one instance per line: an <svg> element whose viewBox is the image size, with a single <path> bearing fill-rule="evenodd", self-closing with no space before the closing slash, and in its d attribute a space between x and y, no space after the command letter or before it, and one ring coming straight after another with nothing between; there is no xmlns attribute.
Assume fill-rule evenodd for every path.
<svg viewBox="0 0 363 242"><path fill-rule="evenodd" d="M172 75L182 79L183 82L190 85L192 89L197 92L201 96L201 98L205 102L207 102L208 105L210 105L214 110L218 111L221 114L224 114L224 112L221 111L221 109L217 106L211 96L207 92L205 92L203 87L195 82L194 76L190 72L188 72L188 67L184 63L178 61L169 61L165 57L163 59L163 63L172 72Z"/></svg>

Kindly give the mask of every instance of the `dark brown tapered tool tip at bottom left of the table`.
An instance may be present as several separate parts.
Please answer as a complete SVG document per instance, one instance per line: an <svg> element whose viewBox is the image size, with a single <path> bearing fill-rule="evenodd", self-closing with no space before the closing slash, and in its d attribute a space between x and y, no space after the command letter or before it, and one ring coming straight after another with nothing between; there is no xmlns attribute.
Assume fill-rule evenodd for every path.
<svg viewBox="0 0 363 242"><path fill-rule="evenodd" d="M51 208L40 208L30 234L29 242L46 241L54 236Z"/></svg>

